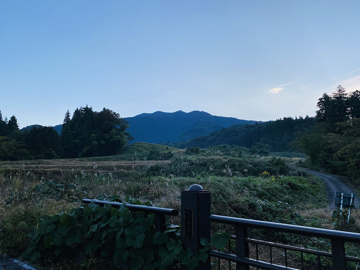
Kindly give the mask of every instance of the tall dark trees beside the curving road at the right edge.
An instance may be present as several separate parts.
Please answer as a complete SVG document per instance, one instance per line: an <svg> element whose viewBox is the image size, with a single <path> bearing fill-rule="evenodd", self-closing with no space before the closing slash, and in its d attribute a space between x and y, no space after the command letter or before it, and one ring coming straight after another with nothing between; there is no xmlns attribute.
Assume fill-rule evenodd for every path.
<svg viewBox="0 0 360 270"><path fill-rule="evenodd" d="M332 94L323 94L317 105L316 125L296 141L307 154L309 166L359 180L360 91L346 93L338 85Z"/></svg>

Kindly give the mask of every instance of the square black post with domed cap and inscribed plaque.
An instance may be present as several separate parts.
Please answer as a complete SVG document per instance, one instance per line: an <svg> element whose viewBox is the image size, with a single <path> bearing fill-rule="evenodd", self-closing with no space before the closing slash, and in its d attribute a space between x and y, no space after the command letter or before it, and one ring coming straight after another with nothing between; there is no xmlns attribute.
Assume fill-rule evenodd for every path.
<svg viewBox="0 0 360 270"><path fill-rule="evenodd" d="M200 185L192 185L181 192L181 241L193 253L203 248L200 238L210 242L210 191ZM210 270L210 256L199 269Z"/></svg>

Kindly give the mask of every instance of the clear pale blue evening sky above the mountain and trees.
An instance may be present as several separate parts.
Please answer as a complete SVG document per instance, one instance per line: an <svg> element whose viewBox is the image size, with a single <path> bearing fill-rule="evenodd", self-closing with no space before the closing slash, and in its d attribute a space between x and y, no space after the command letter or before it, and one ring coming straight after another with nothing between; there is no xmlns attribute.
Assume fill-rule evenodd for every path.
<svg viewBox="0 0 360 270"><path fill-rule="evenodd" d="M0 110L314 116L360 90L360 1L0 1Z"/></svg>

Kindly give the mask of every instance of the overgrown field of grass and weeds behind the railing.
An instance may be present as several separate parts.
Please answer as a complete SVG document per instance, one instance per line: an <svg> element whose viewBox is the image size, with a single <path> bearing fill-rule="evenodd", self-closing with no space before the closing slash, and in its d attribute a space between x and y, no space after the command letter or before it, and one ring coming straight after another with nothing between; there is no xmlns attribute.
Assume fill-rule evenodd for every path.
<svg viewBox="0 0 360 270"><path fill-rule="evenodd" d="M143 156L144 152L139 152ZM132 161L123 167L121 162L113 166L114 161L94 163L89 159L22 162L25 167L19 162L16 166L0 163L1 252L18 256L27 247L26 234L38 216L69 212L81 205L82 198L125 198L129 194L141 201L150 200L155 206L180 209L181 190L195 183L211 190L211 211L216 215L305 226L331 224L329 213L308 216L326 206L325 183L291 170L281 158L253 156L246 148L228 146L172 154L171 162ZM170 222L179 224L180 217ZM220 224L212 226L213 231L230 229ZM355 230L359 227L354 226ZM266 234L270 240L287 244L304 242L286 234L249 233L259 238ZM305 239L305 243L310 242L314 240ZM315 246L323 248L326 242Z"/></svg>

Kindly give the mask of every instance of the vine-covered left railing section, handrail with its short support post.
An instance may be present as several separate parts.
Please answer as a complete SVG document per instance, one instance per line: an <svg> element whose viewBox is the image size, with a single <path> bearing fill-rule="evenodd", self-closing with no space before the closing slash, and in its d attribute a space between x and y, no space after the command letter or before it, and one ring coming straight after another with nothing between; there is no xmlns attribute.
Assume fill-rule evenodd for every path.
<svg viewBox="0 0 360 270"><path fill-rule="evenodd" d="M109 202L109 201L99 201L99 200L91 200L91 199L82 199L82 203L89 204L91 202L98 204L99 206L105 206L105 204L110 204L112 207L120 208L121 206L129 208L129 210L148 212L155 214L155 231L164 232L167 226L165 215L168 216L177 216L179 215L179 211L175 209L161 208L161 207L152 207L145 205L137 205L130 203L119 203L119 202Z"/></svg>

